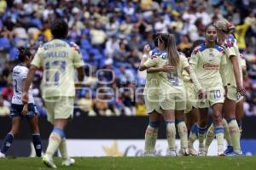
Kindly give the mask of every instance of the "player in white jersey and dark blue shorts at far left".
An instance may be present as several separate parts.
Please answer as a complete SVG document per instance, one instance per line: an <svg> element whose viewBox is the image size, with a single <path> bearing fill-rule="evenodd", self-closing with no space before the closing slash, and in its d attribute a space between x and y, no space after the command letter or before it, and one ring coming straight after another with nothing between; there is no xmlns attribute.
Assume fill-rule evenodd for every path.
<svg viewBox="0 0 256 170"><path fill-rule="evenodd" d="M23 105L21 95L23 93L24 82L28 72L28 67L32 62L32 54L28 48L19 48L20 64L16 65L12 76L14 86L14 96L11 103L10 116L12 118L11 131L3 139L0 156L5 156L7 150L13 142L14 136L18 133L20 122L26 118L32 128L32 141L38 157L41 157L42 145L38 128L38 113L32 96L32 88L29 90L29 102Z"/></svg>

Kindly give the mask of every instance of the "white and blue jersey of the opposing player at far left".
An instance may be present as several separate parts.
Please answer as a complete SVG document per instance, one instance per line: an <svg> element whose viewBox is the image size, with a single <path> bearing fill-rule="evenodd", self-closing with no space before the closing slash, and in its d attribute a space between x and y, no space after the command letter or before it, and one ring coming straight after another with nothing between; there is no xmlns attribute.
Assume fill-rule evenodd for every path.
<svg viewBox="0 0 256 170"><path fill-rule="evenodd" d="M12 75L13 75L13 86L14 86L14 96L12 98L12 104L23 105L22 103L22 89L23 80L27 77L28 68L25 65L16 65ZM28 90L28 103L34 103L32 96L32 86Z"/></svg>

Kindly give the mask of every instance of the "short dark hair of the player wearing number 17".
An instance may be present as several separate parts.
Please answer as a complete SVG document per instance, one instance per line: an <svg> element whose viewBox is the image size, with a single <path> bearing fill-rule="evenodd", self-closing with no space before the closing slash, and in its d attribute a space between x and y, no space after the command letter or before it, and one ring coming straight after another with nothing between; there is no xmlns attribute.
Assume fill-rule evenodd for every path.
<svg viewBox="0 0 256 170"><path fill-rule="evenodd" d="M67 22L62 19L55 20L50 26L51 34L54 38L65 38L68 33Z"/></svg>

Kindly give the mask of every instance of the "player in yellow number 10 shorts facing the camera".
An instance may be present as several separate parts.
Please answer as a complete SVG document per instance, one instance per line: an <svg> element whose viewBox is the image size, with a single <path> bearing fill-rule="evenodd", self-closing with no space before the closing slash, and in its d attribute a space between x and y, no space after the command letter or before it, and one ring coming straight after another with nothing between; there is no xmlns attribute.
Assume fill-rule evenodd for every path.
<svg viewBox="0 0 256 170"><path fill-rule="evenodd" d="M196 47L191 55L190 64L203 88L207 91L207 99L199 100L200 112L198 127L199 156L205 155L204 138L207 131L208 108L212 108L213 125L218 140L218 156L224 155L224 126L222 109L224 103L224 86L222 77L225 61L224 48L216 44L217 30L209 25L205 30L206 42Z"/></svg>

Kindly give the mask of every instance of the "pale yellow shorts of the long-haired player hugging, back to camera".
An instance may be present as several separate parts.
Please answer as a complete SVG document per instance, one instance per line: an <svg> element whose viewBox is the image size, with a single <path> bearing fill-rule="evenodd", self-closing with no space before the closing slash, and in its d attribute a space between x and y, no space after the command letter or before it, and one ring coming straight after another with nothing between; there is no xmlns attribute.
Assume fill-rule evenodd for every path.
<svg viewBox="0 0 256 170"><path fill-rule="evenodd" d="M160 109L183 111L186 109L186 93L163 94L160 96Z"/></svg>

